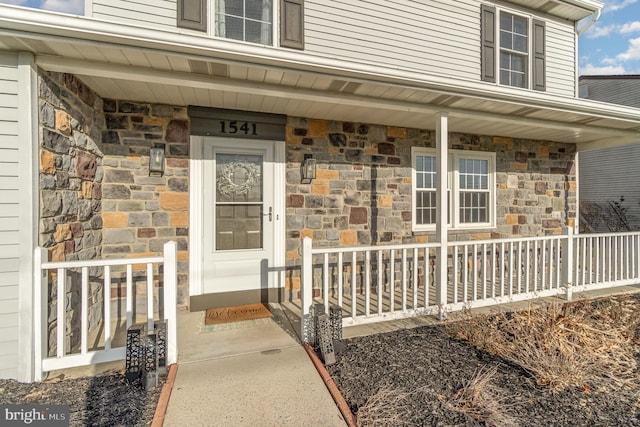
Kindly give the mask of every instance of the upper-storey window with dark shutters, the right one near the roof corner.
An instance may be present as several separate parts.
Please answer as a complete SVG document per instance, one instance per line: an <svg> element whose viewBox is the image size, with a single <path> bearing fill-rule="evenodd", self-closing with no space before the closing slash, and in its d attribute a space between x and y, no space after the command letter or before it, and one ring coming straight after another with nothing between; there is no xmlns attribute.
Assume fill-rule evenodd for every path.
<svg viewBox="0 0 640 427"><path fill-rule="evenodd" d="M546 90L545 23L482 5L481 24L482 80Z"/></svg>

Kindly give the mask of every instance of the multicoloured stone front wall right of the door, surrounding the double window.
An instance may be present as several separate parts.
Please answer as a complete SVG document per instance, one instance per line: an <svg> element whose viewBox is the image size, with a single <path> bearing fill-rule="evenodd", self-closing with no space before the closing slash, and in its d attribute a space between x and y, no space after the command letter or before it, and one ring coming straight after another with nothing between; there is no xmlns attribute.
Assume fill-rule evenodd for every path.
<svg viewBox="0 0 640 427"><path fill-rule="evenodd" d="M298 289L302 238L314 247L427 242L411 230L411 147L435 147L435 131L288 119L287 288ZM559 234L576 212L575 146L449 134L449 148L496 153L496 228L451 231L452 240ZM305 154L317 178L300 183Z"/></svg>

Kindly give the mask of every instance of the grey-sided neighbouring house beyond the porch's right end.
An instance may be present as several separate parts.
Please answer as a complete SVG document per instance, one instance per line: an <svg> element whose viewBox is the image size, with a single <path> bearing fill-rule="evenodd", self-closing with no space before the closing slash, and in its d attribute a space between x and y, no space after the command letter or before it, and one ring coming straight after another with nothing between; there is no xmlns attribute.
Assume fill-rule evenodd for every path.
<svg viewBox="0 0 640 427"><path fill-rule="evenodd" d="M640 76L581 76L581 98L640 108ZM580 153L580 227L640 230L640 140Z"/></svg>

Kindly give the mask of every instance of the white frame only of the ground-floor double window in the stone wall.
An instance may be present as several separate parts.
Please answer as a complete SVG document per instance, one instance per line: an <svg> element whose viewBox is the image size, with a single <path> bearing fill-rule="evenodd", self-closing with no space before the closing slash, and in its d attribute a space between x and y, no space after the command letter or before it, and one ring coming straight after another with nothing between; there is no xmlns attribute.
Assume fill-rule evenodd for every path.
<svg viewBox="0 0 640 427"><path fill-rule="evenodd" d="M434 231L436 224L418 224L417 213L417 170L416 159L418 156L436 157L435 148L412 147L411 148L411 224L413 231ZM460 220L460 159L484 160L488 162L488 221L465 223ZM496 153L469 150L448 150L447 189L449 193L449 223L450 230L487 229L496 227Z"/></svg>

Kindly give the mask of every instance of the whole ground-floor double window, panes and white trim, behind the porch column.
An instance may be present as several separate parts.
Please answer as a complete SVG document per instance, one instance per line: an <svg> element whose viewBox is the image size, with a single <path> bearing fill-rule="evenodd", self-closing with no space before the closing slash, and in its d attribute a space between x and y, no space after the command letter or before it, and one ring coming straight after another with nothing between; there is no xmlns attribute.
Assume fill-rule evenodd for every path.
<svg viewBox="0 0 640 427"><path fill-rule="evenodd" d="M436 213L436 151L414 147L413 229L433 230ZM450 150L447 224L450 228L495 226L495 153Z"/></svg>

